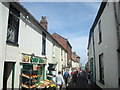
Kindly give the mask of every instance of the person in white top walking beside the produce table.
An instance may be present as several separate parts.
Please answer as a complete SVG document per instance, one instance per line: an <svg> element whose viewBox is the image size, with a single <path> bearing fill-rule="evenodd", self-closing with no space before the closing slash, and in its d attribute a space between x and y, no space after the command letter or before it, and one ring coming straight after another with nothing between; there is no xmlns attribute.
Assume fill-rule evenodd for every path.
<svg viewBox="0 0 120 90"><path fill-rule="evenodd" d="M58 71L58 75L56 76L56 85L57 88L59 88L60 90L62 89L62 85L64 84L64 79L63 76L61 75L61 71Z"/></svg>

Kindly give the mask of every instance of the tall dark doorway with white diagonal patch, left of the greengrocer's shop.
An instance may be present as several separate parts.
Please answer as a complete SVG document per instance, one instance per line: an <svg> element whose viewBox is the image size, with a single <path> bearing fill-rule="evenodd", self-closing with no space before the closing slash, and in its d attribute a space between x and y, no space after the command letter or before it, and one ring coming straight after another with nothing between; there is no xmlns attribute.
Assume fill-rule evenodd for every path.
<svg viewBox="0 0 120 90"><path fill-rule="evenodd" d="M14 89L14 67L15 62L4 63L3 90Z"/></svg>

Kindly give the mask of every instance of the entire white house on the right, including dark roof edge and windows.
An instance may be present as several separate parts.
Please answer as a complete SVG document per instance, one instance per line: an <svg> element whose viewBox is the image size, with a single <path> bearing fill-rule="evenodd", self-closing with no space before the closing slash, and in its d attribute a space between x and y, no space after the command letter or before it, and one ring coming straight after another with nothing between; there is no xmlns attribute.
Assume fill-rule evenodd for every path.
<svg viewBox="0 0 120 90"><path fill-rule="evenodd" d="M89 59L101 88L120 88L120 2L102 2L89 36ZM93 52L93 53L92 53Z"/></svg>

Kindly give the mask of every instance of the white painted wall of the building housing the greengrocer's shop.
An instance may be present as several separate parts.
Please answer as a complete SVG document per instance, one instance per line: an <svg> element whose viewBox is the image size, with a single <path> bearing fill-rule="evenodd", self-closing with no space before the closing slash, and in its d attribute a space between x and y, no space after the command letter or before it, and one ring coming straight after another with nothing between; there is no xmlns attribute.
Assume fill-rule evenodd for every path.
<svg viewBox="0 0 120 90"><path fill-rule="evenodd" d="M6 5L9 7L9 3L6 3ZM2 8L1 8L2 6ZM21 53L26 54L32 54L34 53L36 56L43 57L41 55L42 52L42 35L41 30L37 26L34 26L33 23L29 23L24 19L24 16L21 15L20 17L20 24L19 24L19 37L18 37L18 44L19 46L11 46L6 45L6 35L7 35L7 26L8 26L8 16L9 16L9 9L1 5L0 3L0 9L2 9L2 40L0 39L0 42L2 43L2 61L11 61L16 62L15 64L15 88L19 88L19 75L20 75L20 62L22 60ZM0 10L1 12L1 10ZM0 14L1 15L1 14ZM28 20L29 21L29 20ZM0 21L1 23L1 21ZM1 29L0 29L1 30ZM1 34L1 33L0 33ZM1 54L0 54L1 55ZM46 35L46 57L48 61L52 61L52 39L50 39L49 36ZM0 62L2 66L2 70L4 70L4 63ZM46 68L47 69L47 68ZM3 72L3 71L2 71ZM0 74L1 76L1 86L2 89L2 82L3 82L3 73ZM9 79L9 82L12 82ZM8 85L8 87L11 87Z"/></svg>

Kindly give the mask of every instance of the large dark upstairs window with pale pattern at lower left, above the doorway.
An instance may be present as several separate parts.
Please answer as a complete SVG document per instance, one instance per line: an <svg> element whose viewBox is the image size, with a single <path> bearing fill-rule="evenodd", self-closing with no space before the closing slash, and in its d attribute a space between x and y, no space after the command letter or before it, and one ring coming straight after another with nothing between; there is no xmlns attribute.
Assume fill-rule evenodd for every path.
<svg viewBox="0 0 120 90"><path fill-rule="evenodd" d="M8 43L12 43L12 44L18 43L19 17L20 17L20 12L16 8L10 5L8 29L7 29L7 41L6 41Z"/></svg>

